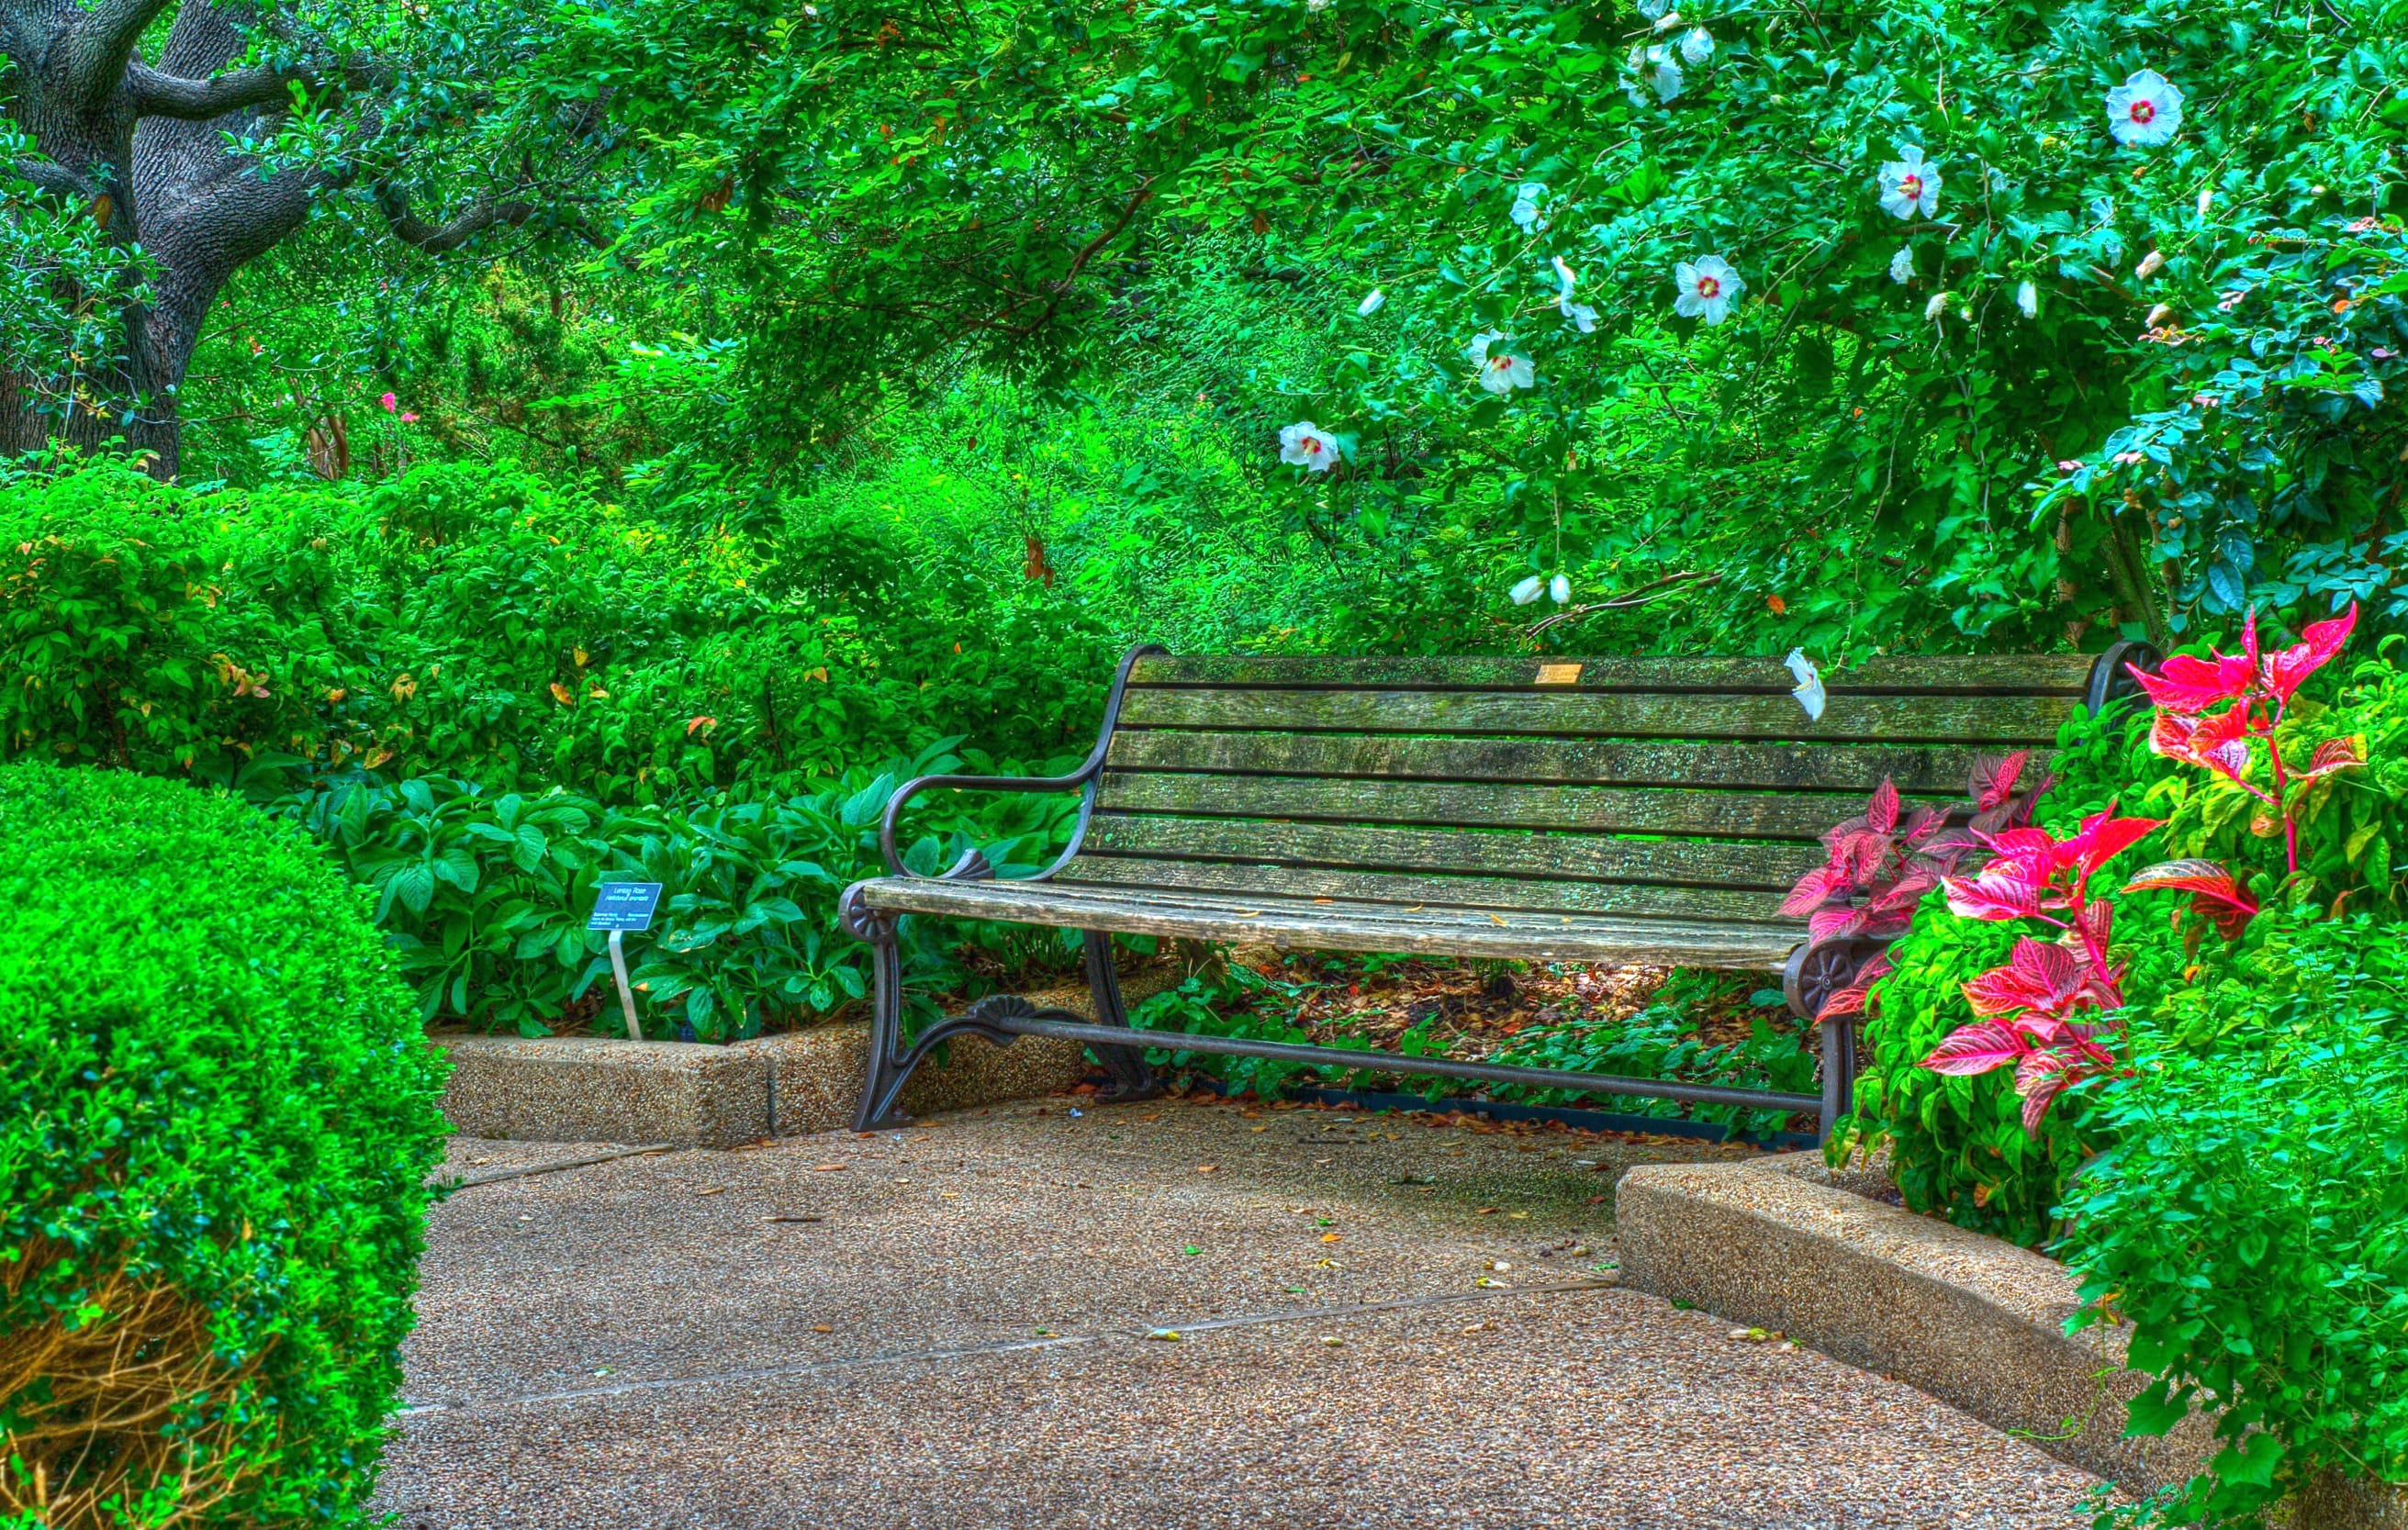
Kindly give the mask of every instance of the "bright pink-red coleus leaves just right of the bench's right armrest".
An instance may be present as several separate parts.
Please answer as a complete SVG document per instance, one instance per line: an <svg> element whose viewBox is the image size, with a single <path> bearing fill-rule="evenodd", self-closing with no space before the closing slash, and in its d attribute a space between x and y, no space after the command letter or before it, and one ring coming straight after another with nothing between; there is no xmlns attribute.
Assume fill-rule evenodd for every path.
<svg viewBox="0 0 2408 1530"><path fill-rule="evenodd" d="M1977 1020L1934 1046L1924 1068L1963 1078L2013 1066L2023 1128L2037 1135L2066 1085L2117 1066L2097 1037L2124 1008L2124 969L2107 955L2114 905L2090 895L2090 878L2160 823L2117 818L2114 803L2107 803L2105 813L2083 818L2071 840L2040 828L1979 835L1991 859L1972 876L1941 883L1948 907L1984 921L2037 919L2059 936L2025 936L2003 967L1967 982L1965 998Z"/></svg>

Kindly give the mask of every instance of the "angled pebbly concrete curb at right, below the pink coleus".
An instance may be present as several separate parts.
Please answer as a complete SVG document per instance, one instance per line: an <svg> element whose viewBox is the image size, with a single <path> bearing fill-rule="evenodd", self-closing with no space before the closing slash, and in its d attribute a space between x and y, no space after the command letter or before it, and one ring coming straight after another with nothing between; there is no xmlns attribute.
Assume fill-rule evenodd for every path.
<svg viewBox="0 0 2408 1530"><path fill-rule="evenodd" d="M2124 1439L2124 1405L2148 1378L2124 1369L2119 1328L2066 1335L2081 1301L2064 1265L1840 1188L1816 1155L1630 1169L1616 1222L1623 1285L1777 1328L2126 1492L2182 1482L2215 1451L2199 1415ZM2290 1523L2401 1530L2408 1494L2331 1479Z"/></svg>

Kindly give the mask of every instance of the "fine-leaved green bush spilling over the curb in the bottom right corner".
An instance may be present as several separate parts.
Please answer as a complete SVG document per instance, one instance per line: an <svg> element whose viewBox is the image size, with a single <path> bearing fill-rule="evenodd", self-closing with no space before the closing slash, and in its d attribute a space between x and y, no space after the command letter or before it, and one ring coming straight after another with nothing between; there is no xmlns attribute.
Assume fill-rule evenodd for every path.
<svg viewBox="0 0 2408 1530"><path fill-rule="evenodd" d="M2117 1145L2064 1205L2083 1297L2158 1374L2136 1431L2220 1410L2225 1448L2153 1506L2167 1523L2256 1523L2319 1470L2408 1479L2408 926L2251 936L2191 1013L2133 1020L2133 1073L2090 1107Z"/></svg>

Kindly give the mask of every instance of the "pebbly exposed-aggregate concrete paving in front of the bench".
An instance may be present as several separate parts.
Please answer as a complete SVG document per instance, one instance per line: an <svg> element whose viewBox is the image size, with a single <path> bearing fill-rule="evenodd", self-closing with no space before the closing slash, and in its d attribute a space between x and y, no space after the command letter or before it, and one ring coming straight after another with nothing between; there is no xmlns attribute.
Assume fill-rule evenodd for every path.
<svg viewBox="0 0 2408 1530"><path fill-rule="evenodd" d="M1611 1285L1621 1172L1731 1150L1416 1121L1047 1099L458 1188L378 1506L400 1530L2090 1523L2097 1482L2018 1439ZM445 1176L602 1152L460 1138Z"/></svg>

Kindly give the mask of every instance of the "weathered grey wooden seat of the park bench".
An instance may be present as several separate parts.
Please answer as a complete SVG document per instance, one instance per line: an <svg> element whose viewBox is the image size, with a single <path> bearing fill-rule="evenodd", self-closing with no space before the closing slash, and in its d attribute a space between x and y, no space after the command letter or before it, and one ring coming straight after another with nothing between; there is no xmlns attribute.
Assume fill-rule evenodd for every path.
<svg viewBox="0 0 2408 1530"><path fill-rule="evenodd" d="M1401 909L1062 883L879 878L864 885L864 897L879 909L949 919L1110 929L1197 941L1267 941L1298 950L1411 950L1536 962L1621 960L1755 972L1780 969L1801 936L1796 924Z"/></svg>

